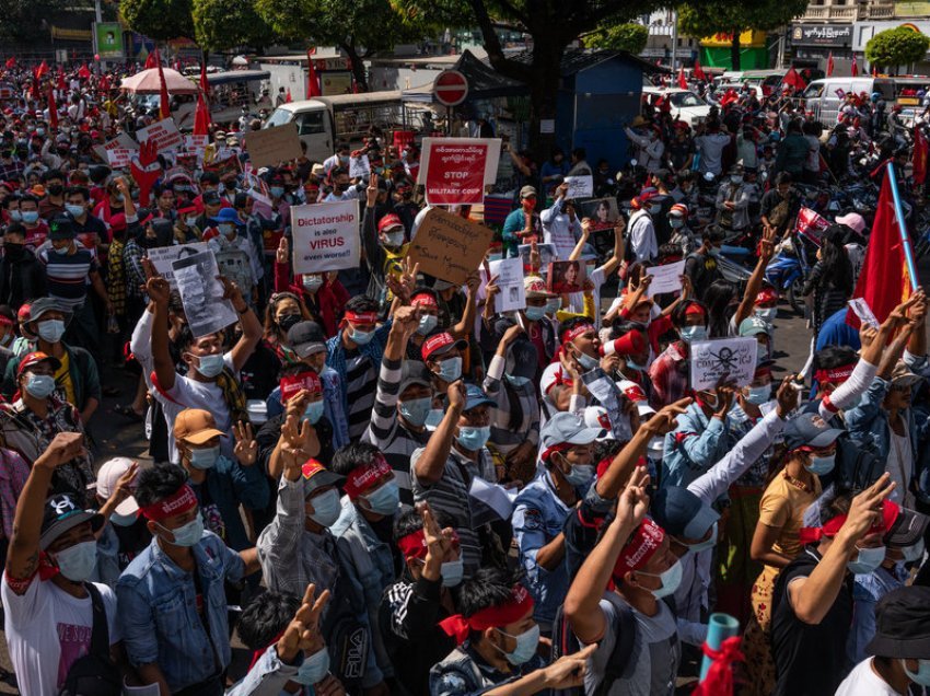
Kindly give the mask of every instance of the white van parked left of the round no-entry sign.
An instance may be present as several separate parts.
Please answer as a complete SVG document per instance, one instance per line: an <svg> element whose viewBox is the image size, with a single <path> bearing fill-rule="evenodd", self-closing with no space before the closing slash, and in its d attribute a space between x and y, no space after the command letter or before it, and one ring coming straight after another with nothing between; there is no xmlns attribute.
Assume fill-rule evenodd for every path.
<svg viewBox="0 0 930 696"><path fill-rule="evenodd" d="M265 121L265 128L290 123L298 125L307 159L323 162L340 140L361 143L370 126L385 131L406 129L406 113L399 91L315 96L281 104Z"/></svg>

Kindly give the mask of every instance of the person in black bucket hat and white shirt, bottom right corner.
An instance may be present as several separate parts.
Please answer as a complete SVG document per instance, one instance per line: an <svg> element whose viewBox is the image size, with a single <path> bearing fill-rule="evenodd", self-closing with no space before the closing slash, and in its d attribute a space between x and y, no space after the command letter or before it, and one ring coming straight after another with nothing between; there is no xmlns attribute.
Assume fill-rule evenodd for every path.
<svg viewBox="0 0 930 696"><path fill-rule="evenodd" d="M930 686L930 588L892 590L875 607L875 637L836 696L905 696Z"/></svg>

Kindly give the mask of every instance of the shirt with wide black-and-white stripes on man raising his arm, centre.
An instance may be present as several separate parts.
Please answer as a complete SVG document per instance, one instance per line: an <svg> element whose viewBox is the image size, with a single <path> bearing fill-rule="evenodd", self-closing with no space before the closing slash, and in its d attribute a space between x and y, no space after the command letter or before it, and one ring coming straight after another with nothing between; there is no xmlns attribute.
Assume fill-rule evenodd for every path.
<svg viewBox="0 0 930 696"><path fill-rule="evenodd" d="M400 392L400 360L384 358L381 374L377 378L377 393L374 395L374 409L371 422L362 436L362 442L375 445L394 469L394 478L400 487L400 502L414 503L410 487L410 455L415 450L425 448L430 438L429 430L415 432L397 417L397 397Z"/></svg>

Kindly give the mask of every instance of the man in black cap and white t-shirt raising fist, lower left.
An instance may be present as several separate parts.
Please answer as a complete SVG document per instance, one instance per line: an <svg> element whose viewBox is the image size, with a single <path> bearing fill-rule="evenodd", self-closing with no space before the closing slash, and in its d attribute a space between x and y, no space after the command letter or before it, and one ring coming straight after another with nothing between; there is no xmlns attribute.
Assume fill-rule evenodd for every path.
<svg viewBox="0 0 930 696"><path fill-rule="evenodd" d="M96 565L94 533L105 518L82 510L70 494L46 500L56 468L83 449L80 432L55 436L16 502L0 594L10 660L20 692L31 696L54 696L63 687L88 693L75 692L74 680L78 672L88 674L89 662L95 663L90 673L115 682L114 693L121 681L114 659L121 652L116 596L105 584L89 582ZM104 507L119 502L112 498Z"/></svg>

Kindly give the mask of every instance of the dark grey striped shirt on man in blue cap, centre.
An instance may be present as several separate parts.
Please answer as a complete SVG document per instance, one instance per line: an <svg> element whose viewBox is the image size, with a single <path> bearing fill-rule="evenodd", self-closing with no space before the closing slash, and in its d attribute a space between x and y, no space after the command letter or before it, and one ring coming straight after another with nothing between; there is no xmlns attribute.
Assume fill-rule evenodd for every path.
<svg viewBox="0 0 930 696"><path fill-rule="evenodd" d="M420 448L410 456L414 500L418 502L427 500L434 510L442 510L454 520L462 548L462 560L465 564L465 577L468 578L481 565L481 546L478 530L472 522L472 501L468 489L476 476L497 483L491 453L487 448L483 448L476 463L461 454L453 445L445 461L442 477L434 484L421 484L417 479L416 466L423 452L426 448Z"/></svg>

